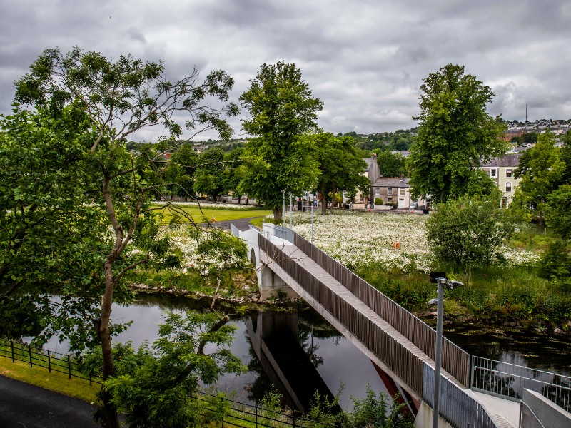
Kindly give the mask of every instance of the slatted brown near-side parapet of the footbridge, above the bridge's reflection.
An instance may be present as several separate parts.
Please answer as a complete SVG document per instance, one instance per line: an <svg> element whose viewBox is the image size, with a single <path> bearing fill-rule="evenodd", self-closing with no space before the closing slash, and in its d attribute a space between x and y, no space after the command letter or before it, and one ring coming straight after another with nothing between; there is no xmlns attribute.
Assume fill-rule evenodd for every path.
<svg viewBox="0 0 571 428"><path fill-rule="evenodd" d="M390 367L414 391L422 395L423 361L402 342L385 332L353 305L313 275L307 275L304 267L291 260L270 240L258 235L260 250L263 250L281 269L293 278L300 287L320 302L338 322L345 326L368 349Z"/></svg>

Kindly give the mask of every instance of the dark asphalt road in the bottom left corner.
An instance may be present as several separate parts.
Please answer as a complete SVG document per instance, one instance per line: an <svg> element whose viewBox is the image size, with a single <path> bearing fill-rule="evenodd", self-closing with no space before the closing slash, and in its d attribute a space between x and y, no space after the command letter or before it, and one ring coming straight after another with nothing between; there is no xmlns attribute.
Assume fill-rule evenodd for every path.
<svg viewBox="0 0 571 428"><path fill-rule="evenodd" d="M96 406L0 376L0 428L98 427Z"/></svg>

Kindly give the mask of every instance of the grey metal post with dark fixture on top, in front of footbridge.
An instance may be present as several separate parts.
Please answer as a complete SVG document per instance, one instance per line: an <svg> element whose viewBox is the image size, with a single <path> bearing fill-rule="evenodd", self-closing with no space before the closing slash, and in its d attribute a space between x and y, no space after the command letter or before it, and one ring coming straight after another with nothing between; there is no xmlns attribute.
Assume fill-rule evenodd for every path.
<svg viewBox="0 0 571 428"><path fill-rule="evenodd" d="M436 315L436 346L434 355L433 428L438 428L440 413L440 367L442 365L442 323L444 317L444 287L462 287L460 281L449 280L445 272L430 272L430 282L438 282L438 310Z"/></svg>

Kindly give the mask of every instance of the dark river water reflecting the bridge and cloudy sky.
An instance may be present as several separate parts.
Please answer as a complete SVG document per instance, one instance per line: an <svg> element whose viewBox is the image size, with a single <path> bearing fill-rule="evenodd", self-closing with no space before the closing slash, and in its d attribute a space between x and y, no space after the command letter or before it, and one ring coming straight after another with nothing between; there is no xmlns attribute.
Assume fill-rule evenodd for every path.
<svg viewBox="0 0 571 428"><path fill-rule="evenodd" d="M113 339L153 342L163 312L182 312L208 307L210 300L138 294L128 307L113 307L114 322L133 324ZM233 399L259 403L272 385L292 409L307 411L315 390L321 395L340 394L340 405L351 408L350 397L365 397L367 384L375 392L387 392L373 363L317 312L300 305L294 312L251 312L233 317L238 330L231 352L248 367L240 376L218 380L216 389ZM447 322L444 335L468 353L492 360L571 374L571 346L566 337L546 337L501 326L494 328ZM67 352L65 343L52 339L49 350ZM57 348L57 349L56 349Z"/></svg>

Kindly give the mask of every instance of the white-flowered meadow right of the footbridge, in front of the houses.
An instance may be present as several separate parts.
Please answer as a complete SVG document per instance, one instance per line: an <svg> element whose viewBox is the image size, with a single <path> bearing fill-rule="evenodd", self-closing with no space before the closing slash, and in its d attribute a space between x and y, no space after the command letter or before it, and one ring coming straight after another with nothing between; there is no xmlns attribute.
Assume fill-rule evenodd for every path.
<svg viewBox="0 0 571 428"><path fill-rule="evenodd" d="M379 263L388 268L428 272L431 266L426 242L427 219L425 215L413 214L314 213L313 243L350 268ZM310 213L295 213L293 229L309 239ZM514 265L537 260L535 253L522 249L503 247L500 251Z"/></svg>

